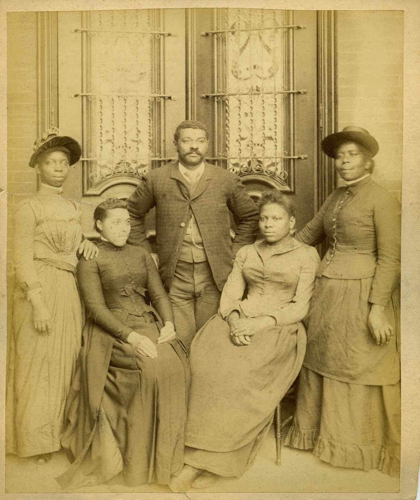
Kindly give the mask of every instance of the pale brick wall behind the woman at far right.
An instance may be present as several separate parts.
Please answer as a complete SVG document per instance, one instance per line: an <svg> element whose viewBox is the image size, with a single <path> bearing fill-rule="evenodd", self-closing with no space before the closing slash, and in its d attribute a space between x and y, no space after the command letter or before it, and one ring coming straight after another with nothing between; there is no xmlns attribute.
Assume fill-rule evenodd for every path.
<svg viewBox="0 0 420 500"><path fill-rule="evenodd" d="M401 201L403 167L401 10L338 11L338 125L366 128L379 142L374 180Z"/></svg>

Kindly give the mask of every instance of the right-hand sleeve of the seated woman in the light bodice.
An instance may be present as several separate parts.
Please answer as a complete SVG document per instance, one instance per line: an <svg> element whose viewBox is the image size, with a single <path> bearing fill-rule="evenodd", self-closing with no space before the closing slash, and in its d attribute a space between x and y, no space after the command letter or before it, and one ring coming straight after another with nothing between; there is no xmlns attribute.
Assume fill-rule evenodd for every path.
<svg viewBox="0 0 420 500"><path fill-rule="evenodd" d="M320 258L317 250L313 247L307 247L306 252L306 257L302 259L299 281L292 302L270 314L280 326L302 321L309 312Z"/></svg>

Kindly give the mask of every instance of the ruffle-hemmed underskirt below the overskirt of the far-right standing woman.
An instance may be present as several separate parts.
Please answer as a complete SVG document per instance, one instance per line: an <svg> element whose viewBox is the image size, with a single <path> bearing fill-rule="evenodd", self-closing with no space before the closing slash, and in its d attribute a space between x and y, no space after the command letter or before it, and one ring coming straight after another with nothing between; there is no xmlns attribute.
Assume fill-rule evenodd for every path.
<svg viewBox="0 0 420 500"><path fill-rule="evenodd" d="M401 385L361 385L302 367L285 444L338 467L400 473Z"/></svg>

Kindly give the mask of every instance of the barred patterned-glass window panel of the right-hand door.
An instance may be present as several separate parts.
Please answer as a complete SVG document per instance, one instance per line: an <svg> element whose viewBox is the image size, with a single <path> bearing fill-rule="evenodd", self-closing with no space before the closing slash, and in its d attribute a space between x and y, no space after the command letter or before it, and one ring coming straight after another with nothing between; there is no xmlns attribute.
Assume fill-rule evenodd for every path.
<svg viewBox="0 0 420 500"><path fill-rule="evenodd" d="M293 12L215 9L213 36L216 155L241 176L256 174L294 192Z"/></svg>

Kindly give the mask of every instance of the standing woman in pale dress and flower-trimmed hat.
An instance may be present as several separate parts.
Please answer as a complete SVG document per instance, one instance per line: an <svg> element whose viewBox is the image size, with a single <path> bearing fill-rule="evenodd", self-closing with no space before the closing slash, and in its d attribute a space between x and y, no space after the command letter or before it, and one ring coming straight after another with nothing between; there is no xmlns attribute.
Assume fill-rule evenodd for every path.
<svg viewBox="0 0 420 500"><path fill-rule="evenodd" d="M6 396L6 452L46 463L60 449L66 395L80 350L82 313L75 279L81 242L80 205L62 197L69 166L81 149L51 128L34 144L29 166L39 175L35 196L13 213L13 295Z"/></svg>

